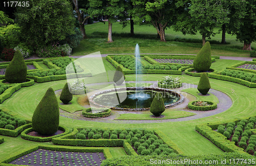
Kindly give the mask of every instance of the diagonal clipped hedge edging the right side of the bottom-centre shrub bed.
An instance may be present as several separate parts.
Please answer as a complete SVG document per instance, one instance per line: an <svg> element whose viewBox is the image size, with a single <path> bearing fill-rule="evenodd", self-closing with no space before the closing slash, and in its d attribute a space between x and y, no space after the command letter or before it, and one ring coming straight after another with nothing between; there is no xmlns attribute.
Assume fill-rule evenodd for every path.
<svg viewBox="0 0 256 166"><path fill-rule="evenodd" d="M177 153L177 154L184 154L184 152L182 152L182 150L181 150L176 144L174 144L174 142L173 142L172 140L170 140L170 139L168 138L168 136L165 135L162 131L160 131L160 130L157 129L157 128L154 128L154 133L155 133L156 135L158 135L158 137L159 137L160 139L162 139L162 140L164 141L164 143L165 143L166 145L168 145L168 147L172 148L175 153Z"/></svg>

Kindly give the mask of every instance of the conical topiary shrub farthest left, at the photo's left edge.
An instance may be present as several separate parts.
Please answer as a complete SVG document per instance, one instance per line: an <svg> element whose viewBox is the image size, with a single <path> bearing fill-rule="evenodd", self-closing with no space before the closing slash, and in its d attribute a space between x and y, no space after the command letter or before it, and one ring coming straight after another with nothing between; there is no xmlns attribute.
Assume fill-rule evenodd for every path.
<svg viewBox="0 0 256 166"><path fill-rule="evenodd" d="M9 83L22 83L27 79L27 65L22 53L17 50L6 68L5 79Z"/></svg>

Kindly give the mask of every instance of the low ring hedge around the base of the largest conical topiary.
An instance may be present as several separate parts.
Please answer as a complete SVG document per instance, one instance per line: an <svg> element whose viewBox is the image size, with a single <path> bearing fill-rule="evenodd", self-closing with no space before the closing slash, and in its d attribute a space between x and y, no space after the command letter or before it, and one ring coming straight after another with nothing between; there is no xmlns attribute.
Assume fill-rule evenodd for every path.
<svg viewBox="0 0 256 166"><path fill-rule="evenodd" d="M29 132L33 131L32 127L31 127L31 128L28 128L28 129L24 130L21 135L22 135L23 139L27 139L27 140L31 140L31 141L37 141L37 142L47 142L47 141L51 141L52 138L62 136L62 135L66 135L70 132L69 129L65 126L59 126L58 129L62 130L62 131L65 131L65 132L62 133L62 134L58 134L58 135L54 135L54 136L50 136L50 137L39 137L39 136L27 135Z"/></svg>

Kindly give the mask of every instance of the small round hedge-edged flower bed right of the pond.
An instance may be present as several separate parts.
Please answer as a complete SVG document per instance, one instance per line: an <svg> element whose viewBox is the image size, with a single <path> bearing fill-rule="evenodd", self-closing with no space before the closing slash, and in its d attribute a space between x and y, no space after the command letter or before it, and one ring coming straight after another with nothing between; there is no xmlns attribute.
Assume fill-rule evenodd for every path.
<svg viewBox="0 0 256 166"><path fill-rule="evenodd" d="M191 101L188 103L188 108L199 111L208 111L217 108L217 103L210 101Z"/></svg>

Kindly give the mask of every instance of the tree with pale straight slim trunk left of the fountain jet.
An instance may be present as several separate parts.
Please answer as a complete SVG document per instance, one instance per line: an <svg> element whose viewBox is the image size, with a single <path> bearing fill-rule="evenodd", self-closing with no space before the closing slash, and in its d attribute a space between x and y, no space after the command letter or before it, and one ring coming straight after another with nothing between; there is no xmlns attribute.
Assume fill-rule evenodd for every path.
<svg viewBox="0 0 256 166"><path fill-rule="evenodd" d="M118 16L124 15L125 1L122 0L89 0L90 15L106 15L108 16L109 32L108 42L113 42L112 39L112 23L115 22Z"/></svg>

